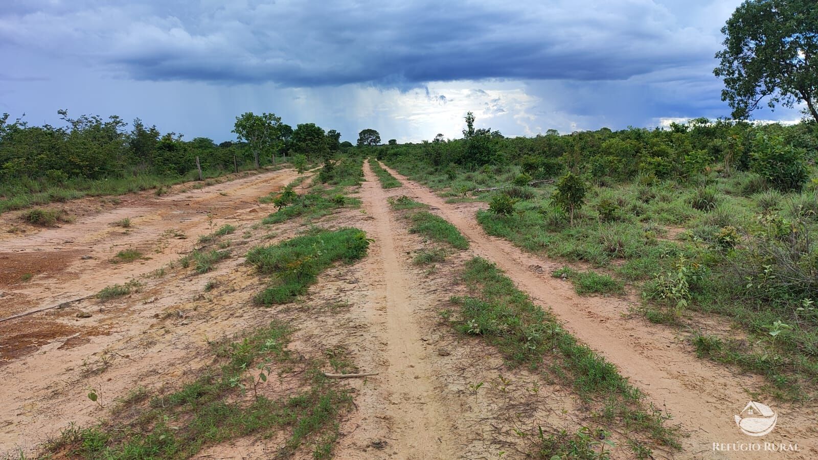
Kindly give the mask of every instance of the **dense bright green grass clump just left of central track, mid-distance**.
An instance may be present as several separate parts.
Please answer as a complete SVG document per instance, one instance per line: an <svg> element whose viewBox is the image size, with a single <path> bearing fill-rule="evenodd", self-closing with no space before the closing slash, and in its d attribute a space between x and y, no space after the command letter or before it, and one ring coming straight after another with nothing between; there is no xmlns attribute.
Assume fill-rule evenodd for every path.
<svg viewBox="0 0 818 460"><path fill-rule="evenodd" d="M247 262L259 273L274 275L272 285L256 296L260 304L285 304L317 282L317 276L337 261L350 264L366 255L370 240L357 228L330 231L314 228L274 246L257 246Z"/></svg>

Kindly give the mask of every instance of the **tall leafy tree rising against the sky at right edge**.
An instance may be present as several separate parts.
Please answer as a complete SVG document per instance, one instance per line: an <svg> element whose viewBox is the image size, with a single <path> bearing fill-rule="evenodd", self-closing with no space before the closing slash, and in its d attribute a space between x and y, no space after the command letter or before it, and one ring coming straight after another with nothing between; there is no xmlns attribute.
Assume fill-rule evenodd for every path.
<svg viewBox="0 0 818 460"><path fill-rule="evenodd" d="M818 7L815 0L747 0L721 29L725 49L713 70L721 99L744 120L767 99L771 108L797 101L818 122Z"/></svg>

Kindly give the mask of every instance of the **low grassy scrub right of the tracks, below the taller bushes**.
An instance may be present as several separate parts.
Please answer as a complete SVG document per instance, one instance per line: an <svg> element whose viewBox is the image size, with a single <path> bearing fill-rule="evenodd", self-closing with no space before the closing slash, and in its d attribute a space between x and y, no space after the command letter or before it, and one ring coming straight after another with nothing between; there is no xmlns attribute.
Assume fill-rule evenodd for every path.
<svg viewBox="0 0 818 460"><path fill-rule="evenodd" d="M765 376L784 399L818 389L815 181L797 192L746 171L588 181L572 225L554 203L555 184L515 185L519 165L443 169L409 156L388 163L449 201L510 202L507 214L478 211L483 229L564 261L555 276L578 293L635 290L646 317L678 327L701 357ZM488 187L502 188L470 192ZM691 312L717 315L734 332L702 331Z"/></svg>

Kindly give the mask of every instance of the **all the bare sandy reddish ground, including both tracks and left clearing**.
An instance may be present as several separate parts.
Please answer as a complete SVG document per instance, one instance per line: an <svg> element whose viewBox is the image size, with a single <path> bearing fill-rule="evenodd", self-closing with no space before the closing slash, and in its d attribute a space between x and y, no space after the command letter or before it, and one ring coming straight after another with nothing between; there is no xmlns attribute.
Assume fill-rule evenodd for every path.
<svg viewBox="0 0 818 460"><path fill-rule="evenodd" d="M43 441L75 422L88 426L129 390L178 388L212 359L208 340L230 337L274 318L294 324L290 348L312 358L344 354L366 379L347 379L353 409L344 414L335 458L525 458L537 426L575 430L588 414L569 390L523 369L507 368L500 354L479 339L463 337L438 312L462 287L456 272L480 255L503 268L520 289L550 307L580 340L604 354L623 375L690 433L681 453L657 458L816 458L814 408L771 404L780 414L762 442L798 443L798 453L714 453L712 443L748 443L733 414L762 384L756 377L696 359L674 332L629 314L627 299L578 297L568 282L552 278L555 262L524 254L486 236L474 219L475 205L445 203L425 187L392 171L405 187L384 191L365 165L366 182L355 192L360 210L339 210L321 219L327 228L362 228L375 240L357 264L331 268L294 304L263 308L252 302L265 280L243 263L250 247L284 241L303 230L298 219L258 226L272 205L258 197L279 190L297 174L289 169L240 178L200 190L154 197L126 196L122 203L75 223L0 242L0 319L137 278L142 288L124 298L79 300L65 308L0 322L0 458L19 449L34 453ZM309 181L300 188L305 187ZM432 206L469 238L471 249L454 254L434 273L411 264L429 245L407 232L388 196L408 195ZM6 216L3 216L6 217ZM133 228L112 226L133 219ZM233 255L211 273L168 268L197 238L231 223L238 229ZM184 234L187 239L178 239ZM175 236L174 236L175 235ZM146 256L112 264L121 249ZM83 259L90 256L90 259ZM145 276L164 267L162 276ZM28 282L21 273L35 273ZM215 282L212 291L205 284ZM91 313L77 318L77 313ZM333 370L326 365L326 372ZM483 386L472 390L474 385ZM277 381L270 395L291 390ZM88 389L106 408L92 404ZM272 458L283 437L248 436L209 446L198 458ZM613 458L629 458L618 446ZM310 458L303 449L297 458Z"/></svg>

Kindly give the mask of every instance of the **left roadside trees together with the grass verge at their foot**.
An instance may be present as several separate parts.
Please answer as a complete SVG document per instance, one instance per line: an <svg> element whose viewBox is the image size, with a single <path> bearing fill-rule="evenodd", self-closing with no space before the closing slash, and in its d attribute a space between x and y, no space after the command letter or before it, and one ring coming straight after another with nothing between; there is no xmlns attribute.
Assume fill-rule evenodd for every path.
<svg viewBox="0 0 818 460"><path fill-rule="evenodd" d="M226 174L276 169L288 156L303 171L353 147L339 142L334 129L325 132L315 124L293 129L267 113L237 116L237 140L218 144L209 138L184 141L181 134L160 133L139 119L129 125L116 115L58 113L63 126L34 126L0 115L0 214L83 196L145 190L162 196L178 183L200 178L216 183L214 178Z"/></svg>

